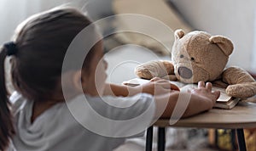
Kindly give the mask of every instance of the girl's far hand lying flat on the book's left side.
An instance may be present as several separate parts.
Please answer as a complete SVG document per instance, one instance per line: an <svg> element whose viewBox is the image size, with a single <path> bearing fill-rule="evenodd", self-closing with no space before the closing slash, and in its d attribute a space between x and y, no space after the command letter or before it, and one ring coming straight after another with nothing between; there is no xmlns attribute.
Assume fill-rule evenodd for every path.
<svg viewBox="0 0 256 151"><path fill-rule="evenodd" d="M142 92L147 92L152 95L159 95L167 92L179 91L179 88L172 84L170 81L155 77L150 80L148 83L145 83L138 88Z"/></svg>

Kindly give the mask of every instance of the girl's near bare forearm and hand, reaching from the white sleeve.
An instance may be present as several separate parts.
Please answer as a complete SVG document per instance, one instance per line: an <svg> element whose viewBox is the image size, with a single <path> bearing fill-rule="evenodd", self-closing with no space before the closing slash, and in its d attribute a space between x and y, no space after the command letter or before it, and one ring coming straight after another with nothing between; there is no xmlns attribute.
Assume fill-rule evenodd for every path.
<svg viewBox="0 0 256 151"><path fill-rule="evenodd" d="M189 100L181 100L189 101L188 107L185 109L182 115L182 117L188 117L201 113L202 111L212 109L213 105L216 103L216 100L220 95L220 92L212 92L211 83L208 82L207 86L205 86L204 82L200 81L198 83L198 88L193 89L191 92L186 92L185 94L180 94L180 92L172 92L155 96L156 111L160 112L164 109L163 113L157 113L157 116L160 118L170 118L179 95L190 96Z"/></svg>

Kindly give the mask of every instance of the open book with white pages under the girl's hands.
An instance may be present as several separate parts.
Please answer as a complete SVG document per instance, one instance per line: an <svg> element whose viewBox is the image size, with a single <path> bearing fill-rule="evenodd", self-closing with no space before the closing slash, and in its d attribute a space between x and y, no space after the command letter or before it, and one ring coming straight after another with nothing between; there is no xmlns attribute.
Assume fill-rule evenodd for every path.
<svg viewBox="0 0 256 151"><path fill-rule="evenodd" d="M138 85L141 85L143 83L148 82L148 80L140 79L140 78L134 78L130 81L124 81L123 84L126 86L135 87ZM195 87L197 87L196 84L186 84L182 83L180 81L170 81L172 84L175 84L177 87L180 88L180 90L183 91L189 91ZM212 87L212 91L220 91L220 96L214 106L214 108L221 108L221 109L232 109L236 106L236 104L240 101L240 98L233 98L227 95L224 88L220 87Z"/></svg>

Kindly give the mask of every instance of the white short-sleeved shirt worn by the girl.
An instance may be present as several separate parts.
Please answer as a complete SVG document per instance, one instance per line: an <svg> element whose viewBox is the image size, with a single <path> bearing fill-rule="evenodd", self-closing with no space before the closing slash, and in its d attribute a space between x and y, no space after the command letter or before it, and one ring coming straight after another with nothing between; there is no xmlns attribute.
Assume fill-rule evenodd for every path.
<svg viewBox="0 0 256 151"><path fill-rule="evenodd" d="M33 102L22 98L19 93L15 92L10 97L11 102L14 103L15 112L16 134L13 138L15 148L18 151L113 150L124 143L125 137L143 136L143 131L135 135L133 130L145 130L154 117L154 99L149 94L140 93L129 98L86 96L90 109L95 110L99 117L105 120L110 119L111 122L107 123L97 120L90 109L80 109L84 106L81 104L83 98L84 95L80 95L67 103L57 103L31 122ZM70 112L70 109L76 110ZM147 109L153 112L148 112L147 117L143 117L147 120L146 122L141 119L139 119L141 122L132 121L143 115ZM76 111L78 112L74 113ZM128 122L118 124L119 121ZM102 128L105 129L101 130Z"/></svg>

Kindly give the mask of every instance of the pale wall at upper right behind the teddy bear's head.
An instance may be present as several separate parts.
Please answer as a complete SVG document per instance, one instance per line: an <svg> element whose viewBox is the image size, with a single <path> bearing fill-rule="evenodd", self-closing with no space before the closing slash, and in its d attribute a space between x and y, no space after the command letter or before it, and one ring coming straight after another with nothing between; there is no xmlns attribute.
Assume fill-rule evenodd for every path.
<svg viewBox="0 0 256 151"><path fill-rule="evenodd" d="M195 29L230 37L235 45L230 65L256 72L255 0L171 1Z"/></svg>

